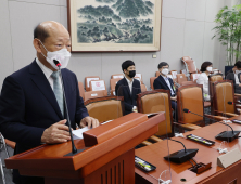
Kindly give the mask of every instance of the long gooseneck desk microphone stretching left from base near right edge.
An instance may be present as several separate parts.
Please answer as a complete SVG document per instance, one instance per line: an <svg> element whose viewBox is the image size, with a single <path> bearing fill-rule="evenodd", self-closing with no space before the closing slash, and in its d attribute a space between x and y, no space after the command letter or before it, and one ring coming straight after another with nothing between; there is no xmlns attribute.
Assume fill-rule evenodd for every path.
<svg viewBox="0 0 241 184"><path fill-rule="evenodd" d="M198 115L198 114L195 114L195 113L192 113L192 111L190 111L190 110L187 109L187 108L185 108L183 111L185 111L185 113L191 113L191 114L193 114L193 115L204 117L204 116L202 116L202 115ZM206 118L212 119L212 118L210 118L210 117L206 117ZM212 119L212 120L214 120L215 122L219 122L219 123L221 123L221 124L228 126L228 127L230 127L230 129L232 130L232 131L224 131L224 132L219 133L218 135L216 135L215 139L221 140L221 141L228 141L228 142L231 142L231 141L233 141L234 139L238 139L240 131L233 131L233 129L232 129L231 126L226 124L226 123L224 123L224 122L221 122L221 121L217 121L217 120L215 120L215 119Z"/></svg>

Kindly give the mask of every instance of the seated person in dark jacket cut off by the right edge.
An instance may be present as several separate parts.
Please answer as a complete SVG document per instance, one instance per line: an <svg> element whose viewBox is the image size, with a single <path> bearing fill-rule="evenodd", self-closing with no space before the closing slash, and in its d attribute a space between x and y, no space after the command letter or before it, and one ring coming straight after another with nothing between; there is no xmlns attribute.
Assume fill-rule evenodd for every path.
<svg viewBox="0 0 241 184"><path fill-rule="evenodd" d="M234 67L230 69L227 75L227 80L232 80L234 87L234 93L241 94L241 81L240 81L240 74L241 74L241 62L237 62Z"/></svg>

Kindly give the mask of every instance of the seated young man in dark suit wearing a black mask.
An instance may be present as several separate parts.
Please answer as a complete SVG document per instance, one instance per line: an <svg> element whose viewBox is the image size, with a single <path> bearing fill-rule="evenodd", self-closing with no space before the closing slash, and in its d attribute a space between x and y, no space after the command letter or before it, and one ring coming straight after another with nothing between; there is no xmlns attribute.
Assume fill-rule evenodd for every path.
<svg viewBox="0 0 241 184"><path fill-rule="evenodd" d="M124 78L115 86L116 96L124 96L125 115L137 111L137 94L141 93L140 81L134 79L136 67L132 61L126 61L122 64Z"/></svg>

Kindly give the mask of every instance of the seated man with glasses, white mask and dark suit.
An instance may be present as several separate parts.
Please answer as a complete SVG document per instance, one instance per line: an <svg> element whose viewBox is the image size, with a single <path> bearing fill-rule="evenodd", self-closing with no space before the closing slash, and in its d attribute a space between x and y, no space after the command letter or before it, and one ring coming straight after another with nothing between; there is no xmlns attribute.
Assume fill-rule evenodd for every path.
<svg viewBox="0 0 241 184"><path fill-rule="evenodd" d="M170 90L172 108L174 109L174 120L178 121L176 90L174 88L173 79L167 77L169 73L169 65L166 62L162 62L158 64L158 70L161 75L154 80L154 89Z"/></svg>

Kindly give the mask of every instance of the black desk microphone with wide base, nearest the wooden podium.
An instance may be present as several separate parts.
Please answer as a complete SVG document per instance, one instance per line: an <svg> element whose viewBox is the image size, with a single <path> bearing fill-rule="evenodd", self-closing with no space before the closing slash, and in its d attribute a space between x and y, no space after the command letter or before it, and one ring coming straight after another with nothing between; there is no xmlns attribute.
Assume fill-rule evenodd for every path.
<svg viewBox="0 0 241 184"><path fill-rule="evenodd" d="M181 143L180 141L172 140L172 139L168 139L168 140L182 144L185 149L181 149L181 150L178 150L178 152L175 152L170 155L165 156L164 157L165 160L169 160L175 163L182 163L185 161L192 159L192 157L194 157L199 150L199 149L187 149L185 147L185 144Z"/></svg>

